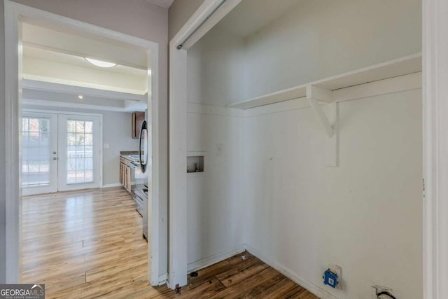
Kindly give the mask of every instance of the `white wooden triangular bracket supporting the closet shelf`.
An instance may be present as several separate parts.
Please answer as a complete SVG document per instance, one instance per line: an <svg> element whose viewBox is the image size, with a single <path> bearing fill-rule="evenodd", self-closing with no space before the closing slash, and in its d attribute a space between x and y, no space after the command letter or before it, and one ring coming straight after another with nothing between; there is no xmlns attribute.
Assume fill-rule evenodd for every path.
<svg viewBox="0 0 448 299"><path fill-rule="evenodd" d="M333 102L332 91L318 88L314 85L307 86L307 100L314 110L318 120L321 121L328 139L325 140L325 166L337 167L339 165L339 110L338 104ZM319 102L330 103L329 115L325 114Z"/></svg>

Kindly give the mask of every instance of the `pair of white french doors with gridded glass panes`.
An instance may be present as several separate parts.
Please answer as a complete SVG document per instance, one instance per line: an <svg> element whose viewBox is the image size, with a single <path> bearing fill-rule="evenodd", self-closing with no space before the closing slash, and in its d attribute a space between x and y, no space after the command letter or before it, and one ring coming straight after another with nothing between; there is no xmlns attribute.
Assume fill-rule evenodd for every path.
<svg viewBox="0 0 448 299"><path fill-rule="evenodd" d="M99 188L100 164L99 116L23 112L23 195Z"/></svg>

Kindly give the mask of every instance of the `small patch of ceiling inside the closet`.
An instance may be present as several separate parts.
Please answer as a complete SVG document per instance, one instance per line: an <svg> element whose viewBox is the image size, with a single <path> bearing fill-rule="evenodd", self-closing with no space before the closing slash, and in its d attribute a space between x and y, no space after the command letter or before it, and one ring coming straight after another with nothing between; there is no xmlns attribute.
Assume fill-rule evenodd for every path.
<svg viewBox="0 0 448 299"><path fill-rule="evenodd" d="M274 22L304 0L243 0L216 25L246 38Z"/></svg>

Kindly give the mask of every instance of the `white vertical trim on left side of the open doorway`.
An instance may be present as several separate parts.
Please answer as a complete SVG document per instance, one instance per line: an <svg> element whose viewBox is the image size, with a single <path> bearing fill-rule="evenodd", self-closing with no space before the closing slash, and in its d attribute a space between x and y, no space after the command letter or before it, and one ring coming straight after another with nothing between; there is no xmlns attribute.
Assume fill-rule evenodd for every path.
<svg viewBox="0 0 448 299"><path fill-rule="evenodd" d="M6 284L22 280L22 186L20 179L20 70L21 30L13 3L4 1L5 18L5 147L6 147ZM2 260L3 262L3 260ZM3 270L3 269L2 269Z"/></svg>

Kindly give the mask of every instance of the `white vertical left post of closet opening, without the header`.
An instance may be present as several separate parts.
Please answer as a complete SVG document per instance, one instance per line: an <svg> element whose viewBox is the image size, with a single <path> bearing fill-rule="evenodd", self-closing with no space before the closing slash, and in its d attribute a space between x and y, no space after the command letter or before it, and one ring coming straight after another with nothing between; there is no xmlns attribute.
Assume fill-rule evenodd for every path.
<svg viewBox="0 0 448 299"><path fill-rule="evenodd" d="M187 51L169 51L169 288L187 284Z"/></svg>

